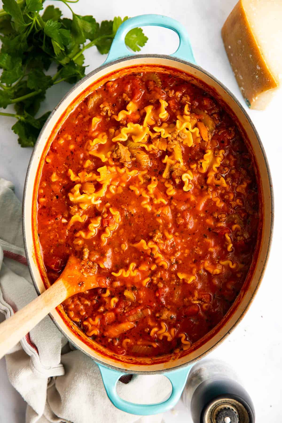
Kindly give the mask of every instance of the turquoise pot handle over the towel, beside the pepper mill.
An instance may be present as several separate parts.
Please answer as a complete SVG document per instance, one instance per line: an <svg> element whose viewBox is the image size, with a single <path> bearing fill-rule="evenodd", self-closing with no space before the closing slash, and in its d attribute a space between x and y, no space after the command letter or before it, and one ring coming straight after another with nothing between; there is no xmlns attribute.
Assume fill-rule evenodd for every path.
<svg viewBox="0 0 282 423"><path fill-rule="evenodd" d="M186 384L186 380L189 374L191 366L181 368L175 371L162 373L167 379L170 380L172 385L172 393L170 398L167 400L160 402L158 404L134 404L132 402L128 402L120 398L116 391L116 385L118 383L118 379L120 376L125 375L126 373L122 373L117 370L113 370L111 368L105 367L100 363L96 363L99 367L101 372L102 380L104 383L104 387L107 392L107 396L109 397L112 404L118 409L125 411L126 413L141 415L141 416L148 416L152 414L159 414L163 413L167 410L170 410L175 404L178 402L181 393L184 389Z"/></svg>

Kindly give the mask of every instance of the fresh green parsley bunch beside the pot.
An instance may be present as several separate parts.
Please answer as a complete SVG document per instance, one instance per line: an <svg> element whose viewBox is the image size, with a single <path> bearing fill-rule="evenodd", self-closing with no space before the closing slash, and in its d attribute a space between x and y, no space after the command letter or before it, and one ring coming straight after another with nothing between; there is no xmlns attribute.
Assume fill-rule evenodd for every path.
<svg viewBox="0 0 282 423"><path fill-rule="evenodd" d="M43 0L44 1L44 0ZM58 0L72 12L72 19L62 17L59 8L49 5L43 12L41 0L3 0L0 11L0 107L14 104L13 131L22 147L34 146L40 129L50 112L36 118L45 93L62 81L71 84L85 75L83 52L96 46L101 54L108 53L118 27L128 17L96 22L93 16L74 13L69 3L79 0ZM140 51L148 38L141 28L126 35L126 45ZM57 64L52 77L46 72L51 63Z"/></svg>

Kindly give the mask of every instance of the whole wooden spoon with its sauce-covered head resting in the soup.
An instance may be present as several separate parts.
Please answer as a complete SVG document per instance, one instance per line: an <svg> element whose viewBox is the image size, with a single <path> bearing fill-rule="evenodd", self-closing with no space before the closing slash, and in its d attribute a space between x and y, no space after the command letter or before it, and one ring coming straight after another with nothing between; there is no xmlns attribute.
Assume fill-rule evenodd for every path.
<svg viewBox="0 0 282 423"><path fill-rule="evenodd" d="M53 285L0 324L0 358L65 299L88 289L107 288L108 285L107 278L95 274L95 268L84 265L83 261L71 255Z"/></svg>

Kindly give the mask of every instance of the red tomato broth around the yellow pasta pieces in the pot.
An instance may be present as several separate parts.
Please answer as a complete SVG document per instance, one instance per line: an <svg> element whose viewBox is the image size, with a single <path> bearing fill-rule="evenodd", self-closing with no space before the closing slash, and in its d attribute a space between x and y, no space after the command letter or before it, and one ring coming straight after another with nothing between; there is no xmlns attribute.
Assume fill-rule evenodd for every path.
<svg viewBox="0 0 282 423"><path fill-rule="evenodd" d="M76 255L82 257L83 250L87 248L90 261L95 263L103 259L104 264L110 264L109 269L99 267L98 273L110 277L112 283L118 285L110 288L109 297L101 295L106 291L105 289L94 289L72 297L63 305L66 313L94 341L112 352L144 357L171 354L185 346L189 347L189 344L182 344L183 337L180 334L185 335L186 342L193 344L222 320L237 297L249 271L259 221L253 163L234 121L210 95L190 82L160 72L157 73L157 77L160 79L161 87L157 86L160 85L158 79L154 77L155 81L152 80L152 75L148 77L146 72L120 77L116 86L115 83L104 84L94 91L98 96L101 94L101 101L90 109L89 97L93 93L85 98L63 122L54 138L47 154L47 157L52 156L52 159L49 163L44 163L38 187L38 199L44 198L44 201L38 203L37 230L50 282L52 283L58 277L70 253L75 251ZM167 88L167 92L162 88ZM174 93L171 90L174 90ZM124 93L127 97L123 96ZM116 115L120 110L126 110L129 100L137 104L137 113L127 116L126 122L122 125L124 126L128 122L142 124L144 120L144 114L140 113L142 109L151 104L154 110L157 110L159 99L165 99L168 102L166 110L169 112L166 122L175 124L178 113L182 115L185 104L188 104L183 100L185 95L190 97L189 107L191 113L194 110L194 118L203 120L199 110L205 111L217 123L210 140L204 141L199 137L200 139L193 143L192 147L181 144L183 163L186 168L190 169L190 165L196 164L196 168L192 168L194 178L190 191L184 192L183 181L177 184L171 172L169 179L162 177L165 168L162 160L167 154L171 156L171 151L160 150L157 154L148 152L151 167L145 175L146 178L149 176L150 178L145 179L140 186L147 187L151 183L152 176L158 180L154 190L157 190L157 197L164 198L170 206L169 218L158 216L159 213L154 212L156 207L153 204L151 207L154 206L154 211L141 206L144 197L136 195L129 188L132 181L138 180L137 176L131 177L118 195L112 195L111 198L101 197L98 209L96 206L90 206L83 210L81 214L86 214L87 220L76 222L69 230L66 230L67 222L71 218L70 207L74 206L67 194L77 183L68 177L68 169L70 168L77 175L84 169L83 163L88 159L91 160L87 168L88 173L108 165L107 162L101 162L99 158L91 157L87 149L88 140L92 135L89 135L92 118L101 117L101 111L106 112L101 117L99 132L108 131L109 127L116 130L120 127L120 122L109 115L107 108L105 110L100 108L100 104L107 102L106 106L110 106L110 112ZM152 125L152 128L153 126L155 125ZM66 139L63 143L58 142L64 135ZM109 137L108 132L107 135ZM149 139L148 144L150 143ZM126 145L126 143L123 144ZM74 145L72 150L69 148L70 145ZM115 145L116 143L110 140L106 143L106 146L110 146L112 150ZM99 146L99 149L101 147L104 145ZM208 172L197 171L208 147L213 154L219 154L221 147L225 150L224 160L218 167L219 172L216 172L216 177L226 178L227 183L229 182L226 188L207 185ZM123 168L120 162L115 161L115 165ZM144 170L137 159L131 160L128 169L129 171L137 169L139 174ZM51 180L54 173L59 175L58 181ZM53 176L52 179L56 177ZM239 185L244 187L246 180L248 181L247 191L241 187L242 192L237 192L236 188ZM164 182L172 184L172 189L176 191L174 195L167 194L168 188ZM134 186L137 185L139 186L135 183ZM211 195L215 193L219 202L224 204L219 208L216 205L217 200L208 198L203 203L203 208L198 210L197 204L207 197L209 187L212 188ZM230 193L234 194L232 200L227 198ZM191 195L197 201L192 201ZM150 205L152 201L153 198L150 199ZM108 202L120 211L121 220L118 229L113 231L106 244L101 246L101 233L113 222L109 207L106 207L107 213L103 210ZM101 225L96 236L83 239L82 247L74 244L75 240L81 238L76 237L75 234L79 231L87 231L90 218L99 217L102 214L107 216L101 218ZM66 222L62 222L62 219ZM241 231L237 228L236 233L232 231L232 226L238 222L241 223ZM169 231L169 236L173 236L172 240L166 239L164 230ZM227 251L225 233L231 236L233 242L230 252ZM131 263L136 264L134 270L138 269L144 261L148 262L150 267L155 264L152 248L148 255L146 250L141 252L132 246L141 239L145 240L147 246L150 240L151 243L157 243L161 247L164 244L165 248L159 251L162 251L162 255L167 260L168 268L157 265L156 269L150 269L147 272L138 270L132 277L112 275L112 272L117 273L119 269L127 271ZM120 245L124 243L128 244L126 250L120 248ZM231 260L232 266L237 263L236 269L231 269L229 264L219 265L220 261L226 260ZM208 269L210 266L214 268ZM212 275L216 268L222 269L222 273ZM190 276L196 277L196 280L187 283L185 279L180 279L177 273L189 273ZM150 281L147 286L143 286L142 280L146 277L150 278ZM127 297L124 295L125 290L129 291ZM134 300L128 299L129 297ZM112 298L118 299L118 302L113 304L113 308L108 301ZM96 317L97 321L95 321ZM87 321L88 325L83 324L84 321ZM116 335L115 328L128 322L131 323L129 324L131 328ZM154 327L158 328L157 332L162 332L161 322L167 329L167 335L155 333L150 336ZM130 341L124 343L125 339Z"/></svg>

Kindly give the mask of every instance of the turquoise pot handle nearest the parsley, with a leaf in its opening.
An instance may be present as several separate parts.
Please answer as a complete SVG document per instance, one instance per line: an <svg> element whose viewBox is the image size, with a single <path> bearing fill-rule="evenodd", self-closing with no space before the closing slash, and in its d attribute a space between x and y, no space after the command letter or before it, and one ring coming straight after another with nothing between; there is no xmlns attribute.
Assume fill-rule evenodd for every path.
<svg viewBox="0 0 282 423"><path fill-rule="evenodd" d="M110 52L104 63L134 55L134 53L129 51L126 47L124 41L125 36L133 28L148 25L161 26L175 31L179 36L179 46L176 52L171 54L171 56L196 64L186 28L180 22L168 16L153 14L135 16L123 22L115 34Z"/></svg>

